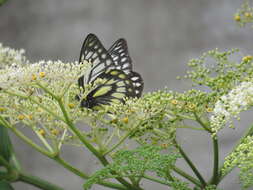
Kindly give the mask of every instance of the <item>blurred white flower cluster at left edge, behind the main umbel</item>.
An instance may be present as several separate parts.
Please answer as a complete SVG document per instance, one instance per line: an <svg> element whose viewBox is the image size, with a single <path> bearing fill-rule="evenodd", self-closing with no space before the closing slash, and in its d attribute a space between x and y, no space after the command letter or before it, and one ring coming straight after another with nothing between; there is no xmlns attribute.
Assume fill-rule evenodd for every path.
<svg viewBox="0 0 253 190"><path fill-rule="evenodd" d="M0 69L10 65L22 65L28 63L24 54L24 49L14 50L9 47L4 47L0 43Z"/></svg>

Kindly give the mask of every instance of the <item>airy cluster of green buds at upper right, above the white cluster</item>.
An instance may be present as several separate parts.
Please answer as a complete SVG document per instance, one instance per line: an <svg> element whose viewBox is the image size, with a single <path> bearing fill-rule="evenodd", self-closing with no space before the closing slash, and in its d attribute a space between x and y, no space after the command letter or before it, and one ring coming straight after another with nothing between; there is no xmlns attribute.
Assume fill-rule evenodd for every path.
<svg viewBox="0 0 253 190"><path fill-rule="evenodd" d="M194 86L207 87L213 92L213 96L228 93L240 82L253 76L252 56L245 56L237 62L232 57L236 52L237 49L224 52L214 49L198 59L192 59L188 64L191 70L185 78L191 79Z"/></svg>

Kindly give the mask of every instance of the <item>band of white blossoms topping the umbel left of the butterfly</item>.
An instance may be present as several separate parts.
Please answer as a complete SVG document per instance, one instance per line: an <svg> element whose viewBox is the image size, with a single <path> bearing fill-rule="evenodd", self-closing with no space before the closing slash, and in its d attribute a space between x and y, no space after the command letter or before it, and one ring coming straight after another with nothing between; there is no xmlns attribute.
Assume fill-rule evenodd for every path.
<svg viewBox="0 0 253 190"><path fill-rule="evenodd" d="M0 87L10 89L29 86L34 82L46 82L52 86L64 86L76 82L85 70L85 64L63 63L61 61L40 61L27 65L11 65L0 69Z"/></svg>

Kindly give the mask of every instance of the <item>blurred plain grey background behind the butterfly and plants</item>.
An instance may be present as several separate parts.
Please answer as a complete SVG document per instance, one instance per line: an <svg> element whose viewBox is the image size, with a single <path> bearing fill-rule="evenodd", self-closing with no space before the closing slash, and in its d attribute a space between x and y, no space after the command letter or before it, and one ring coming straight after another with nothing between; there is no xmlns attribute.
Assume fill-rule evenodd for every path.
<svg viewBox="0 0 253 190"><path fill-rule="evenodd" d="M252 54L253 31L241 29L233 21L240 0L9 0L0 7L0 42L13 48L24 48L32 61L41 59L78 60L81 45L88 33L95 33L109 46L118 38L127 39L134 60L134 69L145 81L145 92L167 86L183 91L187 82L177 81L191 58L204 51L221 48L240 48ZM237 129L224 130L221 136L221 158L232 148L245 127L251 123L243 114L244 122ZM204 176L212 170L211 142L203 132L181 130L180 142L197 163ZM19 139L13 137L18 158L31 174L55 182L65 189L81 190L83 181L41 156ZM96 160L87 151L66 147L65 158L91 173ZM188 172L190 169L179 163ZM238 190L235 172L219 187ZM36 190L16 183L17 190ZM146 190L165 190L164 186L144 182ZM107 189L94 186L92 189Z"/></svg>

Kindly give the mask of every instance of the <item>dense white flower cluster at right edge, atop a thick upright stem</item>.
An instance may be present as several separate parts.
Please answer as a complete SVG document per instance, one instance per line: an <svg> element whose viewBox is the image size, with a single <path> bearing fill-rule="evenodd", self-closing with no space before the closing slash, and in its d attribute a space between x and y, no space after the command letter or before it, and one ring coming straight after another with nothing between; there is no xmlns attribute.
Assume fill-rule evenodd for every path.
<svg viewBox="0 0 253 190"><path fill-rule="evenodd" d="M232 117L238 117L252 103L253 82L242 82L215 104L214 114L211 116L212 131L216 134L227 122L231 122Z"/></svg>

